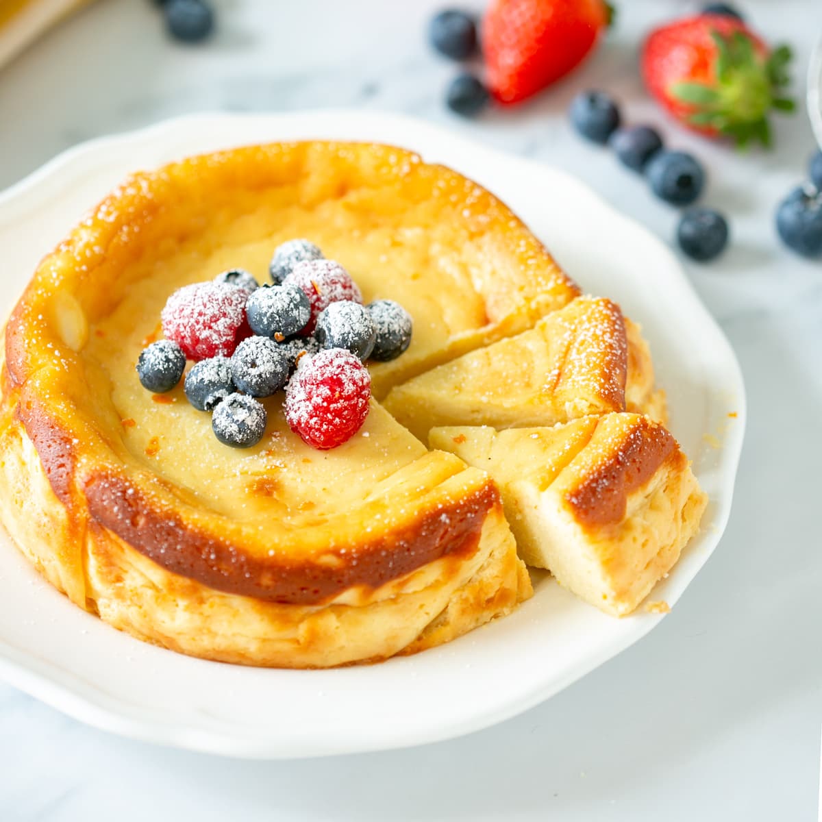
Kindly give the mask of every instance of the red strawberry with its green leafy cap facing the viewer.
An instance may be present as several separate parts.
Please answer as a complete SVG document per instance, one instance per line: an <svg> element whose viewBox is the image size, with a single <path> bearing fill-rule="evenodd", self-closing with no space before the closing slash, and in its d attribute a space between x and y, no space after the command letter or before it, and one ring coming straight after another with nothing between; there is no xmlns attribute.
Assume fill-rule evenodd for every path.
<svg viewBox="0 0 822 822"><path fill-rule="evenodd" d="M770 110L794 109L783 95L790 60L790 48L771 51L742 21L704 14L651 32L642 73L651 94L687 127L737 145L770 145Z"/></svg>

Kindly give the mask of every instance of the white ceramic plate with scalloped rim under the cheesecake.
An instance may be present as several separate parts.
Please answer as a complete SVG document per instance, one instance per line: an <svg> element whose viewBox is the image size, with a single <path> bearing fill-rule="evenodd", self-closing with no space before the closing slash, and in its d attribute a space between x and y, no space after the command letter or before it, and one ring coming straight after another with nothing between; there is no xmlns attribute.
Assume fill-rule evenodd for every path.
<svg viewBox="0 0 822 822"><path fill-rule="evenodd" d="M468 174L507 201L584 289L617 299L642 323L672 430L710 496L700 536L652 594L673 606L727 522L745 426L741 373L667 247L565 173L386 115L173 120L81 145L0 196L0 301L11 307L44 252L128 172L294 138L395 143ZM414 657L334 671L259 670L120 634L44 584L0 541L0 676L109 731L226 755L381 750L478 730L546 700L662 618L641 610L606 617L545 578L513 616Z"/></svg>

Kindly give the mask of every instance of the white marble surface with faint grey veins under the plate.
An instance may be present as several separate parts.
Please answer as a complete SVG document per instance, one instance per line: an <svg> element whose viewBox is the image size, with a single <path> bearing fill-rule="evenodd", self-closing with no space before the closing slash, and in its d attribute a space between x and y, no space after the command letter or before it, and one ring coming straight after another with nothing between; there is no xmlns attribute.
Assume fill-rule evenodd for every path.
<svg viewBox="0 0 822 822"><path fill-rule="evenodd" d="M690 272L746 376L736 506L717 552L649 637L550 702L455 741L238 762L111 737L0 685L0 820L815 819L822 262L779 247L772 219L813 146L804 114L779 122L768 155L736 155L666 122L641 94L637 44L689 2L617 2L617 30L583 71L479 122L441 104L453 69L423 39L438 0L217 5L219 35L185 48L166 39L149 0L101 0L0 70L0 187L78 141L177 113L352 106L559 164L667 238L675 212L566 125L575 90L607 86L630 119L658 122L672 145L699 153L704 200L732 218L731 251ZM822 33L818 0L742 5L804 68Z"/></svg>

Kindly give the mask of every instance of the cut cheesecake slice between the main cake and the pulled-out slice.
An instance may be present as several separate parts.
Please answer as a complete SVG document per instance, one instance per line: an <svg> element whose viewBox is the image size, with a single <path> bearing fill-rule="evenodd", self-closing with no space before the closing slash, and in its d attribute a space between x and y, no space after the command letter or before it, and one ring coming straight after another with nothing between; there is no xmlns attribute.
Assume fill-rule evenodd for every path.
<svg viewBox="0 0 822 822"><path fill-rule="evenodd" d="M594 297L395 386L385 405L423 441L444 425L553 425L626 408L665 416L639 327Z"/></svg>

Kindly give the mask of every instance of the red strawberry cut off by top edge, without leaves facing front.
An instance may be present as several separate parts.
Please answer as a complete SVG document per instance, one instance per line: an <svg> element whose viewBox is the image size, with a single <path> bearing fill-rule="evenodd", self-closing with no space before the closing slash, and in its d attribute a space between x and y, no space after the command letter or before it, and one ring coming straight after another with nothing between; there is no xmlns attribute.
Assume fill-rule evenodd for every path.
<svg viewBox="0 0 822 822"><path fill-rule="evenodd" d="M518 103L565 76L597 43L611 13L604 0L492 0L482 28L492 95Z"/></svg>

